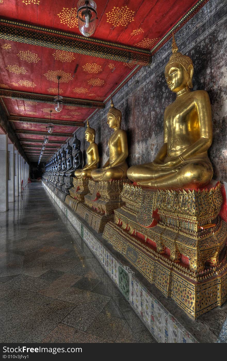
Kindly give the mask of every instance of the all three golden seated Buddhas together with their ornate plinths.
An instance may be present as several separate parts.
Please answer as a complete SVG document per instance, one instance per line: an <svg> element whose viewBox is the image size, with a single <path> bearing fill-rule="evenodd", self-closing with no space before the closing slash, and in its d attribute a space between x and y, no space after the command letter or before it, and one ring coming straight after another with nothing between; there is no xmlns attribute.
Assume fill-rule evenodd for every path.
<svg viewBox="0 0 227 361"><path fill-rule="evenodd" d="M110 157L102 168L95 130L85 139L87 164L74 173L66 203L143 276L192 318L227 300L227 223L221 183L208 158L212 113L208 93L192 91L193 64L173 35L165 79L176 99L164 112L164 143L152 162L128 168L122 114L107 124Z"/></svg>

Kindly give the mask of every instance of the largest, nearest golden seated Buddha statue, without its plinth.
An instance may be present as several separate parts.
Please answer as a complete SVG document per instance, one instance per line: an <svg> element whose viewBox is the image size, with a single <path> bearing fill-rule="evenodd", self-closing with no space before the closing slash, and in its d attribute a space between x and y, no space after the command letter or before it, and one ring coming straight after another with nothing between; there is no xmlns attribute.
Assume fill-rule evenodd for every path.
<svg viewBox="0 0 227 361"><path fill-rule="evenodd" d="M210 100L206 91L190 90L192 76L192 60L178 52L173 35L165 79L177 97L164 112L164 144L153 162L128 169L131 181L151 188L193 189L212 179L207 155L212 144Z"/></svg>

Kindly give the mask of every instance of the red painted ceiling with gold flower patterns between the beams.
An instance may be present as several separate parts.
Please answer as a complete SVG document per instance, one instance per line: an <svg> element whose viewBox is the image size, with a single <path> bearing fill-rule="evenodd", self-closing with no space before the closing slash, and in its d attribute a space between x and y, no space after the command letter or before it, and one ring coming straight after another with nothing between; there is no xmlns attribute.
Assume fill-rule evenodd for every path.
<svg viewBox="0 0 227 361"><path fill-rule="evenodd" d="M207 0L204 0L204 3ZM201 0L199 1L201 2ZM198 0L96 0L97 28L91 38L152 50ZM80 35L73 0L3 0L0 17ZM26 27L26 26L25 26ZM103 101L135 68L135 64L103 59L48 47L0 39L0 88L57 95L57 75L61 75L60 95ZM76 70L76 73L75 73ZM43 118L44 124L13 121L15 130L45 131L52 104L1 98L8 116ZM56 121L85 121L95 108L63 106L52 112ZM55 133L74 133L70 124L55 125ZM43 135L17 134L19 139L43 140ZM68 136L48 135L59 147ZM40 145L21 141L26 144ZM27 149L27 148L26 148ZM39 148L37 148L39 149ZM47 153L47 147L45 149ZM38 156L37 156L38 159Z"/></svg>

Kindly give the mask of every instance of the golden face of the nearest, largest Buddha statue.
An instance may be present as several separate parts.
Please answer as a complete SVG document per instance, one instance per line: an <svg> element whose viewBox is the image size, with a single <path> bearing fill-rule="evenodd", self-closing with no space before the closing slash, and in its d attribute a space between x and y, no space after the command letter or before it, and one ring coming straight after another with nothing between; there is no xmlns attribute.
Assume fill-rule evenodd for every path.
<svg viewBox="0 0 227 361"><path fill-rule="evenodd" d="M177 93L188 85L189 74L181 64L173 63L165 69L165 80L170 90Z"/></svg>

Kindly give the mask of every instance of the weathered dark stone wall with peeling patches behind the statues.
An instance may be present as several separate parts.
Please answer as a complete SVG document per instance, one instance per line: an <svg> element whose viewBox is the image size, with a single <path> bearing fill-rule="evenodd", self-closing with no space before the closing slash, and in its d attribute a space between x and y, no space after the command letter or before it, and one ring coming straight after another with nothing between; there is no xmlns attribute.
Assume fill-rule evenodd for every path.
<svg viewBox="0 0 227 361"><path fill-rule="evenodd" d="M193 90L203 89L209 93L213 113L213 144L209 157L214 179L221 181L227 181L226 18L226 1L210 0L175 35L179 51L193 60ZM171 43L172 40L166 43L153 56L151 66L139 70L113 97L115 107L123 113L121 127L128 134L129 166L152 161L163 144L164 109L175 99L164 77ZM101 165L109 156L108 139L112 133L106 123L109 108L110 101L89 121L96 131ZM77 131L77 138L81 140L85 156L88 143L84 140L84 129Z"/></svg>

